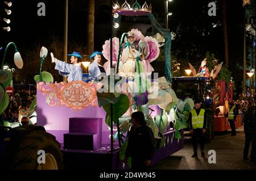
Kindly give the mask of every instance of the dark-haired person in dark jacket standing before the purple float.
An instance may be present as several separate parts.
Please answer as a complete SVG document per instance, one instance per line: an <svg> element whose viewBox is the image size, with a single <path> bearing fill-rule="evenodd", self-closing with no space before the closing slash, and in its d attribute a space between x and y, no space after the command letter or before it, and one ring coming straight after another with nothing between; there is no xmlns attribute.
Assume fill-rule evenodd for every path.
<svg viewBox="0 0 256 181"><path fill-rule="evenodd" d="M149 169L156 151L154 134L146 125L143 112L133 112L131 121L133 126L129 132L124 161L127 163L127 158L131 157L131 169Z"/></svg>

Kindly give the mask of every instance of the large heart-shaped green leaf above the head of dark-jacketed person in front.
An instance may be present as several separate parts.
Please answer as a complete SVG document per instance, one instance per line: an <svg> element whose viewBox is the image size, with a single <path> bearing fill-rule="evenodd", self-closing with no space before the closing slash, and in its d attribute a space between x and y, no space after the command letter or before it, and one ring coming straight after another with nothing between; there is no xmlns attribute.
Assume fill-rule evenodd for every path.
<svg viewBox="0 0 256 181"><path fill-rule="evenodd" d="M116 124L119 117L121 117L129 108L129 98L125 94L119 96L118 102L113 104L113 121ZM103 106L104 110L110 115L110 104ZM108 123L107 123L108 124ZM110 125L110 124L108 124Z"/></svg>

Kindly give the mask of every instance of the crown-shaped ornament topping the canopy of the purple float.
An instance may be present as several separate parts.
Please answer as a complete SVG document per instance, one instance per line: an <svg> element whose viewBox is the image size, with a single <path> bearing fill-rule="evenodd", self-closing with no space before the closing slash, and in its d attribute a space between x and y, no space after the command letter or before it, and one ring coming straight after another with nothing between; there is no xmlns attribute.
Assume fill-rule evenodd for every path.
<svg viewBox="0 0 256 181"><path fill-rule="evenodd" d="M122 1L122 0L121 0ZM125 0L125 2L122 4L122 6L120 6L120 4L118 3L118 0L116 2L113 3L113 10L114 11L146 11L146 12L151 12L152 10L152 6L151 3L148 6L147 5L147 1L144 2L144 4L141 6L137 0L133 3L133 5L130 5L127 0Z"/></svg>

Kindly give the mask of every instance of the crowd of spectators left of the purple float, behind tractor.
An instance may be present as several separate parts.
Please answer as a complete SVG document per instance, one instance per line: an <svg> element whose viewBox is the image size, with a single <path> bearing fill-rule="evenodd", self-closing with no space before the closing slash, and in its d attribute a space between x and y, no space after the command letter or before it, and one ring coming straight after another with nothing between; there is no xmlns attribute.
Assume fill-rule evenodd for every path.
<svg viewBox="0 0 256 181"><path fill-rule="evenodd" d="M36 96L35 90L21 89L14 92L13 95L9 95L9 106L3 112L3 120L9 121L10 123L16 123L19 120L19 112L26 111L30 108L32 100Z"/></svg>

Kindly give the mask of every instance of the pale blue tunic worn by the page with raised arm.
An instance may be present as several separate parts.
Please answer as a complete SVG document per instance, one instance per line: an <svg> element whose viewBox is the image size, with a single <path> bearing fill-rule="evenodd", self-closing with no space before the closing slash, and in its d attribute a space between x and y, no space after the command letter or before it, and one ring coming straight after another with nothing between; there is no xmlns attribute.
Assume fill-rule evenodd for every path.
<svg viewBox="0 0 256 181"><path fill-rule="evenodd" d="M55 69L59 70L59 74L63 77L68 76L68 82L82 81L81 64L76 64L76 66L74 66L59 60L55 65Z"/></svg>

